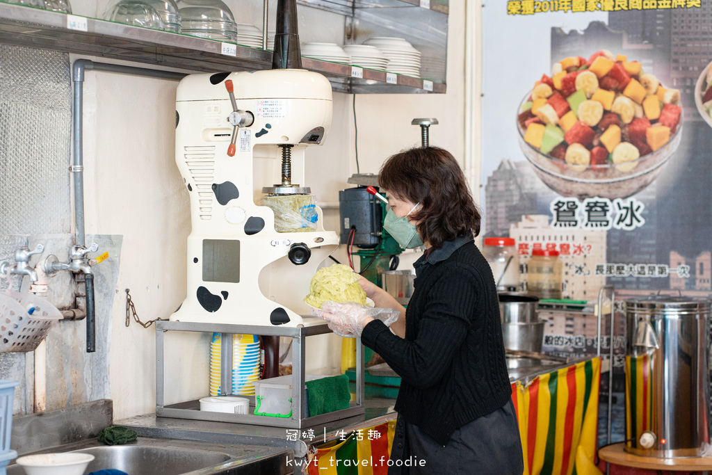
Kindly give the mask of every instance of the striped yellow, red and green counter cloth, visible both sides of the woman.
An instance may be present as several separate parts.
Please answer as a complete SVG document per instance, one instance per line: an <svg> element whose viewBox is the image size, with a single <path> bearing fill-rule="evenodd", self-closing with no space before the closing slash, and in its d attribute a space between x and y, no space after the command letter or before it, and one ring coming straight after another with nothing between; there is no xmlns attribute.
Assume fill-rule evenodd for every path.
<svg viewBox="0 0 712 475"><path fill-rule="evenodd" d="M512 384L523 475L601 475L595 466L601 360L577 363ZM386 475L395 421L318 447L309 475ZM371 430L379 437L368 437ZM358 440L358 439L361 440ZM383 459L382 459L383 457Z"/></svg>

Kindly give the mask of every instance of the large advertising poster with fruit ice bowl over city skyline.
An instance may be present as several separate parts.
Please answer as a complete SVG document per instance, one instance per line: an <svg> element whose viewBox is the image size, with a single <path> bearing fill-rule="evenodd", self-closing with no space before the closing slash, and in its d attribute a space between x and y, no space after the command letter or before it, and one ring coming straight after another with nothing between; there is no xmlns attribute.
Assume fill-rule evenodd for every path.
<svg viewBox="0 0 712 475"><path fill-rule="evenodd" d="M483 8L483 236L515 239L520 291L532 252L558 251L562 298L589 303L553 318L544 351L595 350L582 315L602 286L712 296L711 25L712 0Z"/></svg>

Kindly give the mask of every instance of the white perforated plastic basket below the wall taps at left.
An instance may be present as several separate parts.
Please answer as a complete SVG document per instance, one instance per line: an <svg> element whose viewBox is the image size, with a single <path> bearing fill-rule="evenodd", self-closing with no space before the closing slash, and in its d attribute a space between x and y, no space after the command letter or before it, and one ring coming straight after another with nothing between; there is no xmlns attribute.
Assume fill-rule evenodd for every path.
<svg viewBox="0 0 712 475"><path fill-rule="evenodd" d="M35 350L61 318L55 306L32 293L0 293L0 352Z"/></svg>

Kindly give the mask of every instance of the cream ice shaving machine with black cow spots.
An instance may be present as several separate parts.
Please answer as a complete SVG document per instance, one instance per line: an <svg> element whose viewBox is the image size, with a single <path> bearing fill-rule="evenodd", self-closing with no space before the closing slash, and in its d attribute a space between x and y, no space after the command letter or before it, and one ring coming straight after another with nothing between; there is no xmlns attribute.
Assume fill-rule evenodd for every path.
<svg viewBox="0 0 712 475"><path fill-rule="evenodd" d="M189 191L188 296L171 320L309 325L303 298L337 247L304 185L331 123L331 85L302 69L193 74L176 99Z"/></svg>

